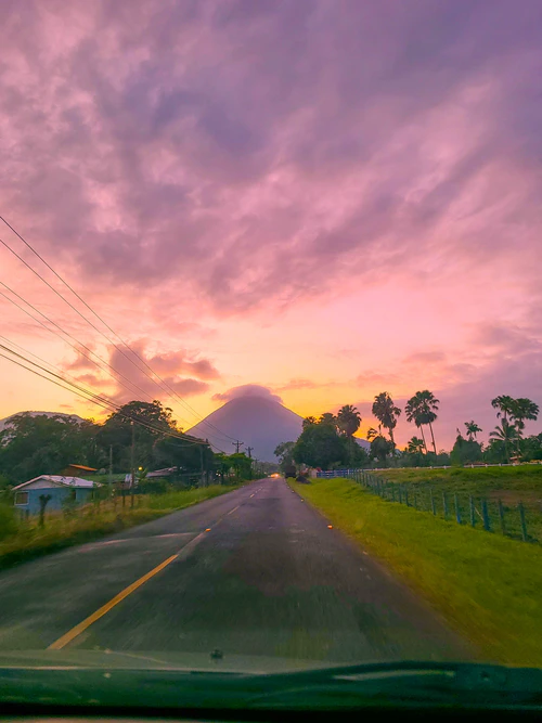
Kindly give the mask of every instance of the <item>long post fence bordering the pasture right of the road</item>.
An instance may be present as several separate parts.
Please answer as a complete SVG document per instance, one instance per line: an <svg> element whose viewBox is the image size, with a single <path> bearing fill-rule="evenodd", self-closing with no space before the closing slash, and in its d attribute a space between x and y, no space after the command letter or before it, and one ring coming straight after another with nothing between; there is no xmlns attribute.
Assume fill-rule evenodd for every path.
<svg viewBox="0 0 542 723"><path fill-rule="evenodd" d="M522 502L517 505L503 503L500 499L454 492L417 482L404 485L390 482L366 469L340 469L319 473L319 477L347 477L362 485L372 494L387 502L403 504L427 512L435 517L496 532L522 542L542 542L538 532L540 525L533 519L533 511Z"/></svg>

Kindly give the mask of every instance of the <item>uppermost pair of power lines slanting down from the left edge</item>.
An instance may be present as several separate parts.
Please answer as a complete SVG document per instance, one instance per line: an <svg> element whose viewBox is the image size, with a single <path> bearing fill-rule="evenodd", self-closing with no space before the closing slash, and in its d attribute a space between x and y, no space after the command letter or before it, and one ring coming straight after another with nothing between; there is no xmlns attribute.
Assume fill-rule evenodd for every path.
<svg viewBox="0 0 542 723"><path fill-rule="evenodd" d="M145 361L145 360L144 360L144 359L143 359L137 351L134 351L131 347L128 346L128 344L126 344L126 341L125 341L125 340L124 340L124 339L122 339L122 338L121 338L121 337L120 337L120 336L119 336L119 335L118 335L118 334L117 334L117 333L116 333L116 332L115 332L115 331L114 331L114 330L113 330L113 328L112 328L112 327L111 327L111 326L109 326L109 325L108 325L108 324L107 324L101 317L100 317L100 314L98 314L98 313L94 311L94 309L92 309L92 307L91 307L89 304L87 304L87 301L86 301L86 300L85 300L85 299L83 299L83 298L82 298L82 297L81 297L81 296L80 296L80 295L79 295L79 294L78 294L78 293L77 293L77 292L76 292L76 291L75 291L75 289L67 283L67 281L65 281L65 280L64 280L64 279L63 279L63 277L62 277L62 276L61 276L54 269L53 269L53 267L52 267L50 263L48 263L48 261L46 261L46 259L44 259L44 258L43 258L43 257L42 257L42 256L41 256L41 255L34 248L34 246L33 246L29 242L27 242L26 238L24 238L24 237L18 233L18 231L16 231L16 229L14 229L14 228L11 225L11 223L9 223L9 222L3 218L3 216L1 216L1 215L0 215L0 220L1 220L1 221L2 221L9 229L11 229L11 231L13 231L13 233L14 233L18 238L21 238L21 241L25 244L25 246L26 246L27 248L29 248L29 249L33 251L33 254L39 258L39 260L40 260L40 261L41 261L41 262L42 262L42 263L43 263L43 264L44 264L44 266L46 266L46 267L47 267L47 268L48 268L48 269L55 275L55 276L56 276L56 279L59 279L59 281L61 281L61 282L64 284L64 286L66 286L66 288L68 288L68 289L72 292L72 294L74 294L74 296L75 296L77 299L79 299L79 301L80 301L81 304L85 305L86 308L87 308L87 309L88 309L88 310L89 310L89 311L90 311L90 312L91 312L91 313L92 313L92 314L93 314L93 315L94 315L94 317L95 317L95 318L96 318L96 319L98 319L98 320L99 320L99 321L100 321L100 322L101 322L101 323L102 323L102 324L103 324L103 325L104 325L104 326L105 326L105 327L106 327L106 328L107 328L114 336L116 336L116 338L117 338L117 339L118 339L118 340L119 340L119 341L120 341L120 343L121 343L121 344L122 344L122 345L124 345L124 346L125 346L125 347L126 347L126 348L127 348L127 349L128 349L128 350L129 350L129 351L130 351L137 359L139 359L139 361L140 361L142 364L144 364L144 365L146 366L146 369L149 369L149 371L150 371L152 374L154 374L154 376L156 376L156 377L159 379L160 384L165 385L166 389L168 389L168 390L170 391L170 393L172 393L177 399L179 399L180 403L181 403L185 409L188 409L189 411L191 411L191 412L194 414L194 416L195 416L196 418L199 418L201 423L206 424L208 427L215 429L215 430L218 431L221 436L225 436L228 439L233 439L233 437L230 437L230 435L228 435L227 432L222 432L222 431L221 431L218 427L216 427L211 422L206 421L206 419L203 418L199 414L197 414L197 412L196 412L196 411L195 411L195 410L194 410L188 402L185 402L185 401L182 399L182 397L180 397L180 396L175 391L175 389L172 389L172 388L167 384L167 382L165 382L165 380L164 380L164 379L163 379L163 378L162 378L162 377L160 377L160 376L159 376L159 375L158 375L158 374L157 374L157 373L150 366L150 364L147 364L147 362L146 362L146 361ZM88 324L90 324L90 326L92 326L92 328L94 328L99 334L101 334L105 339L107 339L107 341L108 341L109 344L112 344L112 345L115 347L115 349L117 349L120 353L122 353L122 356L126 357L126 359L128 359L128 360L129 360L129 361L130 361L137 369L139 369L141 372L143 372L143 373L145 374L145 376L147 376L150 379L152 379L152 380L159 387L159 385L158 385L158 383L156 382L156 379L153 379L153 377L151 377L149 374L146 374L146 372L144 372L144 370L142 370L140 366L138 366L138 365L136 364L136 362L133 361L133 359L131 359L130 357L128 357L121 349L119 349L118 346L117 346L114 341L112 341L112 340L107 337L107 335L104 334L103 331L99 330L99 328L98 328L98 327L96 327L96 326L95 326L89 319L87 319L87 317L85 317L85 315L83 315L83 314L82 314L82 313L81 313L81 312L80 312L80 311L79 311L73 304L70 304L70 302L69 302L69 301L68 301L68 300L67 300L67 299L66 299L66 298L65 298L65 297L64 297L57 289L55 289L55 288L54 288L54 287L53 287L53 286L52 286L46 279L43 279L43 277L42 277L42 276L41 276L41 275L40 275L40 274L39 274L39 273L38 273L38 272L37 272L37 271L36 271L29 263L27 263L27 262L23 259L23 257L21 257L15 250L13 250L9 244L7 244L2 238L0 238L0 243L2 243L2 244L5 246L5 248L8 248L14 256L16 256L16 257L20 259L20 261L22 261L22 262L23 262L23 263L24 263L24 264L25 264L25 266L26 266L33 273L35 273L35 274L36 274L36 275L37 275L37 276L38 276L44 284L47 284L47 286L49 286L49 288L51 288L51 291L53 291L54 294L56 294L56 296L59 296L59 298L61 298L61 299L62 299L65 304L67 304L67 305L68 305L68 306L69 306L69 307L70 307L77 314L79 314L79 317L81 317L81 319L83 319ZM164 387L160 387L160 388L164 390Z"/></svg>

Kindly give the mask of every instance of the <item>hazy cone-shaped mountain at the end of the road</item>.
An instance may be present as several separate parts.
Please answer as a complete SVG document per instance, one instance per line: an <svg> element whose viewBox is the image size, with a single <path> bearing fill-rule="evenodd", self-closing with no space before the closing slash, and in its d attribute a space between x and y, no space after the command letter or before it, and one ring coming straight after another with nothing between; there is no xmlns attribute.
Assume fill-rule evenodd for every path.
<svg viewBox="0 0 542 723"><path fill-rule="evenodd" d="M276 462L274 450L281 442L295 442L301 434L302 417L286 406L263 397L240 397L227 402L189 429L190 435L208 439L228 454L235 451L231 439L244 442L242 451L253 447L253 457ZM218 427L217 431L211 426Z"/></svg>

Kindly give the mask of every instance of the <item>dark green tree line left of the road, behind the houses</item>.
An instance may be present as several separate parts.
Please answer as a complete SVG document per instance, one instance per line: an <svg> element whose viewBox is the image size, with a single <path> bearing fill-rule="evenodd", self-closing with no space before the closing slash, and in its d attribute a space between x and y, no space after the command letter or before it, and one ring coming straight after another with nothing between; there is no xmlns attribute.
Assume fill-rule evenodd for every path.
<svg viewBox="0 0 542 723"><path fill-rule="evenodd" d="M128 402L102 424L18 414L0 432L0 487L57 475L69 464L108 472L109 461L114 474L129 473L133 462L141 477L145 470L176 467L179 474L249 479L254 466L244 453L215 454L206 440L184 435L172 410L157 400Z"/></svg>

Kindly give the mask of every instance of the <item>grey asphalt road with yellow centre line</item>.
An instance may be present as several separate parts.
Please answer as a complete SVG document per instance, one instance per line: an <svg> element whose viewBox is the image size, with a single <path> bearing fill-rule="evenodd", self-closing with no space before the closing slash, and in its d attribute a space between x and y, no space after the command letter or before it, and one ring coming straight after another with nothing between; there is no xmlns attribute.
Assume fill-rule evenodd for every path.
<svg viewBox="0 0 542 723"><path fill-rule="evenodd" d="M219 648L343 662L472 657L424 603L282 479L0 573L0 650L43 650L59 640L65 649Z"/></svg>

